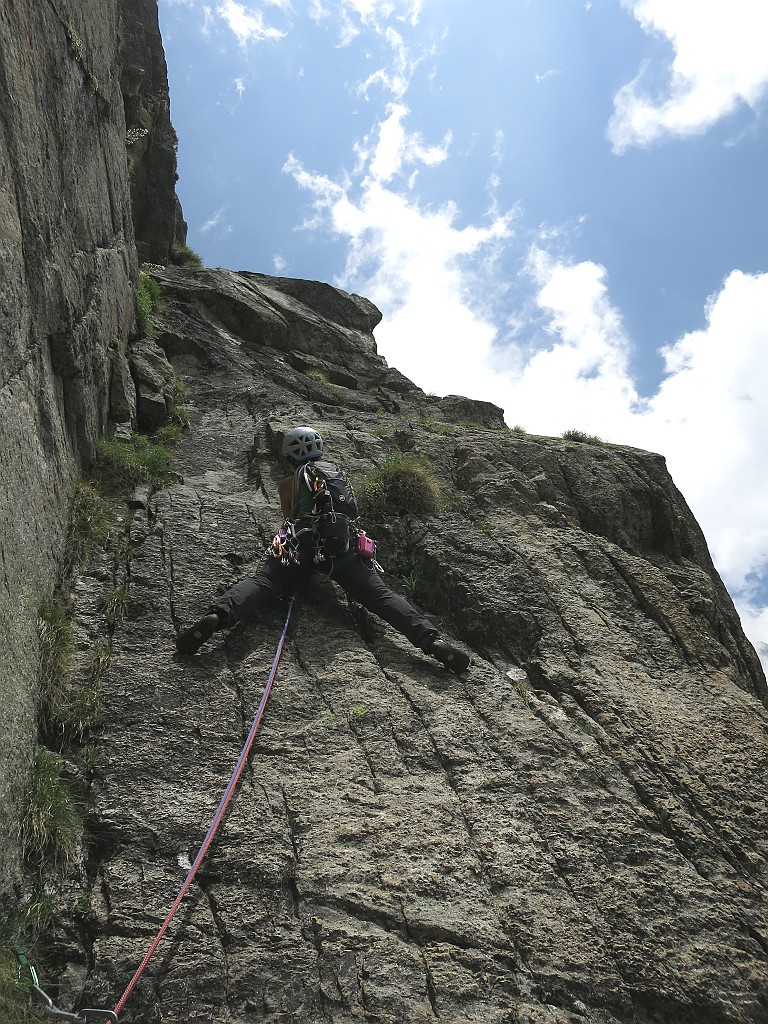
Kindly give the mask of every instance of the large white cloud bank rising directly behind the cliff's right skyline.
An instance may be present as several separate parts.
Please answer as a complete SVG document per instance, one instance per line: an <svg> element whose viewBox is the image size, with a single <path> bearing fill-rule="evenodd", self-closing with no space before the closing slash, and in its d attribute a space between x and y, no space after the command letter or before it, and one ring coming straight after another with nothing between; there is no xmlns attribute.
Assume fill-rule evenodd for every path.
<svg viewBox="0 0 768 1024"><path fill-rule="evenodd" d="M426 168L432 151L443 152L408 132L407 114L389 108L378 139L359 147L353 177L335 181L295 158L284 168L312 196L308 223L346 241L337 284L384 312L379 350L422 387L496 401L508 423L531 432L577 428L664 454L759 640L754 631L768 622L756 587L768 572L768 273L729 274L708 303L706 328L664 349L665 376L647 398L606 269L551 255L557 232L531 247L529 307L502 338L480 297L503 287L494 260L518 244L514 212L459 226L454 204L423 208L397 185L407 162Z"/></svg>

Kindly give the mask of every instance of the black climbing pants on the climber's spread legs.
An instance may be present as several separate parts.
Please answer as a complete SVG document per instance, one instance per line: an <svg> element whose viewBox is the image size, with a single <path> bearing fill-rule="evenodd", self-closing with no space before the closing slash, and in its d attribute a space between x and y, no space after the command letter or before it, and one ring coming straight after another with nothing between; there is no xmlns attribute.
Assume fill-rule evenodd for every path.
<svg viewBox="0 0 768 1024"><path fill-rule="evenodd" d="M267 558L258 572L222 594L211 605L211 610L218 614L221 626L228 629L242 618L251 617L282 595L295 593L314 571L327 572L325 568L315 566L309 553L302 556L298 565L295 562L284 565L276 558ZM437 636L437 629L432 623L393 593L371 562L359 558L355 552L350 551L336 558L330 575L351 600L389 623L416 647L428 649Z"/></svg>

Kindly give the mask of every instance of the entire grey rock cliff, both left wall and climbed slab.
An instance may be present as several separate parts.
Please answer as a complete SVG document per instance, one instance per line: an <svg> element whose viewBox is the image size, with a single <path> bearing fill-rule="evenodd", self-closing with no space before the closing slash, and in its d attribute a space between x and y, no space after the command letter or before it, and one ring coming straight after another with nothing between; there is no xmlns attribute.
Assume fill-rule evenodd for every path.
<svg viewBox="0 0 768 1024"><path fill-rule="evenodd" d="M156 269L157 341L140 339L135 250L165 264L183 238L156 6L16 0L0 45L11 900L35 620L73 480L116 420L162 421L169 373L191 421L171 482L116 503L68 580L76 672L109 657L88 770L72 767L85 841L43 936L58 1004L115 1006L203 842L285 609L194 657L175 633L260 564L283 432L311 423L368 494L387 582L473 665L452 676L315 577L220 835L121 1020L765 1021L768 691L663 458L426 395L377 353L379 311L322 283ZM366 478L397 455L435 472L435 507L374 501Z"/></svg>

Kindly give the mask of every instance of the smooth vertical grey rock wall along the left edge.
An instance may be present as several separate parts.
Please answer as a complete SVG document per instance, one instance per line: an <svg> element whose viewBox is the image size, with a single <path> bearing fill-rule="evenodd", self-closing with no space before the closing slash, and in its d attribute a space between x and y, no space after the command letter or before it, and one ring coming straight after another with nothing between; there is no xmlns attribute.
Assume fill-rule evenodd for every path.
<svg viewBox="0 0 768 1024"><path fill-rule="evenodd" d="M152 236L143 219L137 234L155 255L170 249L176 208L173 146L157 141L172 129L156 4L10 0L0 10L0 895L18 871L37 610L60 574L74 478L108 427L111 394L125 403L131 386L136 236L119 47L122 38L135 62L137 36L163 126L152 133L152 169L132 159L143 191L162 193ZM129 419L126 410L115 418Z"/></svg>

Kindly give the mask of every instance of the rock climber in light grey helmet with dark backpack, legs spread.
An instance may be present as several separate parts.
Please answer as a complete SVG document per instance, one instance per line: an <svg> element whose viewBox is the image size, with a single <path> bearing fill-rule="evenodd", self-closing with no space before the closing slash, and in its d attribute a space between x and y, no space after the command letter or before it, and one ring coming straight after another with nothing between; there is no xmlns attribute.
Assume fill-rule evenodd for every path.
<svg viewBox="0 0 768 1024"><path fill-rule="evenodd" d="M289 430L283 456L292 472L278 488L285 522L268 557L258 572L227 590L202 618L178 634L179 652L194 654L216 630L251 617L284 594L295 593L311 572L322 571L416 647L452 672L464 672L468 655L441 639L432 623L385 586L377 572L374 542L359 526L354 493L344 473L326 461L317 431Z"/></svg>

